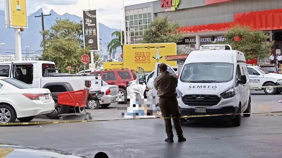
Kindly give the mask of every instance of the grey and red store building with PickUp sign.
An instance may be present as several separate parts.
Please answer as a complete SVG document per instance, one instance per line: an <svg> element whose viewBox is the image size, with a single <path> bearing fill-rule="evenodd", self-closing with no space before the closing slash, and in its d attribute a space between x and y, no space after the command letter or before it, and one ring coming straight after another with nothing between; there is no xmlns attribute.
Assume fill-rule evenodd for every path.
<svg viewBox="0 0 282 158"><path fill-rule="evenodd" d="M180 49L224 41L222 36L232 25L244 24L269 33L276 41L273 53L281 53L282 0L158 0L125 6L130 43L141 40L154 17L161 16L180 24L185 36L177 43Z"/></svg>

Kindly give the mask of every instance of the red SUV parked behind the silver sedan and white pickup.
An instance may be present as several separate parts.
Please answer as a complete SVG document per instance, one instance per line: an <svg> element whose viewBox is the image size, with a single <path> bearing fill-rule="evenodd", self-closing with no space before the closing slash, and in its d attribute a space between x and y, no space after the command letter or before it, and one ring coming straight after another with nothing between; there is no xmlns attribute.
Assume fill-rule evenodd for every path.
<svg viewBox="0 0 282 158"><path fill-rule="evenodd" d="M117 85L122 96L126 95L127 82L136 80L137 77L137 73L129 69L94 71L90 74L98 74L109 85Z"/></svg>

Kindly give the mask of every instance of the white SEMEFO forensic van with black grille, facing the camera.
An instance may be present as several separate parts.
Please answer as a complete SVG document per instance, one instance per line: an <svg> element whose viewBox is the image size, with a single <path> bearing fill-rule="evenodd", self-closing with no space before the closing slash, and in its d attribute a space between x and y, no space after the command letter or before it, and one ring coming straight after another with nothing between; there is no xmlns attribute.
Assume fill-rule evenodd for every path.
<svg viewBox="0 0 282 158"><path fill-rule="evenodd" d="M204 45L192 51L179 75L177 98L181 115L250 113L244 53L230 45ZM241 115L225 115L223 119L231 119L233 126L241 124Z"/></svg>

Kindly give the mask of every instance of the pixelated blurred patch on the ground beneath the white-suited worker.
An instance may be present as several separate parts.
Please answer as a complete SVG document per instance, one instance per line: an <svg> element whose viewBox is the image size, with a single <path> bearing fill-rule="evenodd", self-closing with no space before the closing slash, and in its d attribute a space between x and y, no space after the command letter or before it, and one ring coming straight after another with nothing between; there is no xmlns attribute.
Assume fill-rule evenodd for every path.
<svg viewBox="0 0 282 158"><path fill-rule="evenodd" d="M118 99L119 116L123 118L155 118L157 104L155 96L122 96Z"/></svg>

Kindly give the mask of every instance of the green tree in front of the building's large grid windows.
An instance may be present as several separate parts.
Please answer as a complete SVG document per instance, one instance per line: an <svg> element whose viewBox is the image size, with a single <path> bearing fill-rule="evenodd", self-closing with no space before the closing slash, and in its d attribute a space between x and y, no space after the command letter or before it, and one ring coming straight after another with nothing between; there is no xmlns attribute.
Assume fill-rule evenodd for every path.
<svg viewBox="0 0 282 158"><path fill-rule="evenodd" d="M183 33L178 30L179 23L168 19L167 16L156 17L154 21L145 28L141 43L176 43L183 38Z"/></svg>

